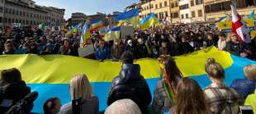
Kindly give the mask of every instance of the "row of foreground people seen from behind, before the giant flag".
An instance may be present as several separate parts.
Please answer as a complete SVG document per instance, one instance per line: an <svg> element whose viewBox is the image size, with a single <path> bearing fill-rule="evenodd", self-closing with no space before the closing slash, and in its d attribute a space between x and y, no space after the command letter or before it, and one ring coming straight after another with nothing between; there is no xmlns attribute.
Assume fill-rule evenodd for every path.
<svg viewBox="0 0 256 114"><path fill-rule="evenodd" d="M256 65L244 66L245 79L234 80L231 86L224 83L225 71L214 58L208 58L205 71L211 84L201 89L197 81L184 78L173 57L161 55L159 58L160 78L149 91L140 65L134 64L133 53L121 55L120 74L112 80L107 98L107 109L99 111L99 99L93 95L92 85L85 74L74 75L70 80L69 92L72 101L60 105L59 98L50 98L44 104L45 114L238 114L239 106L251 106L256 111L255 84ZM12 84L20 85L12 87ZM21 86L22 85L22 86ZM9 69L1 72L1 101L15 99L13 103L31 93L21 80L21 72ZM11 94L10 94L11 93ZM16 93L16 95L12 95ZM20 93L20 94L17 94ZM153 99L153 101L152 101ZM32 103L29 103L32 104ZM31 111L33 105L20 108ZM9 108L6 108L9 109ZM11 108L12 109L12 108Z"/></svg>

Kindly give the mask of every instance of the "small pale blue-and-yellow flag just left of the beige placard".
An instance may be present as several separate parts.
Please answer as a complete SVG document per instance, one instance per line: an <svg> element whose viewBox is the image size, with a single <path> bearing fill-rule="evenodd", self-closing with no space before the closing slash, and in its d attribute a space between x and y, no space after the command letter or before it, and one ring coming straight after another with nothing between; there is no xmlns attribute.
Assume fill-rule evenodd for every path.
<svg viewBox="0 0 256 114"><path fill-rule="evenodd" d="M103 39L105 41L120 39L120 30L121 30L121 26L114 27L113 29L109 30L107 34L105 34Z"/></svg>

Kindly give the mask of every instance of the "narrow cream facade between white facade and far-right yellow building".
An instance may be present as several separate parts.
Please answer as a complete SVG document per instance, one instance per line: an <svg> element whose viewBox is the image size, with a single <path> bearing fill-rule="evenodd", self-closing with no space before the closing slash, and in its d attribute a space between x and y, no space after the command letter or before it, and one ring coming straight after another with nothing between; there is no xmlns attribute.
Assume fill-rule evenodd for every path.
<svg viewBox="0 0 256 114"><path fill-rule="evenodd" d="M191 21L205 21L205 10L203 0L190 0Z"/></svg>

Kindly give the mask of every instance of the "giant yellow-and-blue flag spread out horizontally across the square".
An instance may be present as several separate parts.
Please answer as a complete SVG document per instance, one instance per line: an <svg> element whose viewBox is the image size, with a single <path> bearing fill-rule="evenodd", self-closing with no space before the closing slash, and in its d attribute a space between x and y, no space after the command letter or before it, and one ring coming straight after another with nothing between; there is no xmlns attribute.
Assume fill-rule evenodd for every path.
<svg viewBox="0 0 256 114"><path fill-rule="evenodd" d="M225 68L225 84L228 85L235 79L244 78L245 65L256 64L254 61L230 55L229 52L221 52L217 48L206 48L174 59L183 75L197 80L204 89L211 84L204 70L208 57L214 57ZM32 91L39 92L33 109L33 112L38 113L43 113L43 103L47 98L59 97L62 104L70 102L69 80L79 73L88 75L93 93L99 98L100 110L105 110L111 80L121 70L121 62L98 62L64 55L3 55L0 56L0 63L0 71L17 67L21 71L22 80L26 80ZM140 73L145 77L153 95L154 86L159 80L158 60L145 58L135 63L140 64Z"/></svg>

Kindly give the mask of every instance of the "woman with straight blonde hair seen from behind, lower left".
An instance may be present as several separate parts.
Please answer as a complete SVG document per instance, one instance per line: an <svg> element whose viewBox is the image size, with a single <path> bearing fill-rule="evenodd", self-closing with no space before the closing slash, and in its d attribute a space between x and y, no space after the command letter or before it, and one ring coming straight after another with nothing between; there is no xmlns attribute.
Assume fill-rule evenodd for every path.
<svg viewBox="0 0 256 114"><path fill-rule="evenodd" d="M92 95L92 86L88 77L84 74L75 75L70 80L69 91L73 102L79 106L74 106L73 102L67 103L60 109L60 114L87 113L97 114L99 111L98 98ZM73 112L74 107L79 107L79 111Z"/></svg>

